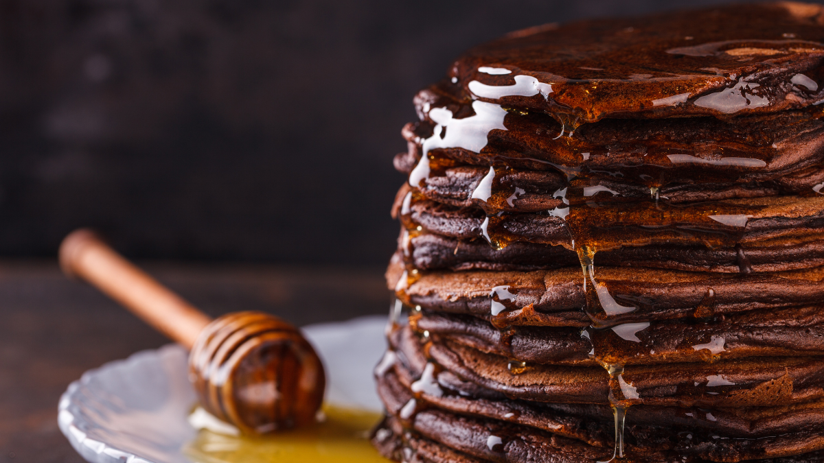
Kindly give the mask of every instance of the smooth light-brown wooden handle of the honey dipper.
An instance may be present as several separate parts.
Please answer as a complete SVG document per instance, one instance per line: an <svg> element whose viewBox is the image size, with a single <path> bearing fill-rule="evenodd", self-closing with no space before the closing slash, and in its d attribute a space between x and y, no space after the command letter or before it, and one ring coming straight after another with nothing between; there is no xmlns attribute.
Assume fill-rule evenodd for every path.
<svg viewBox="0 0 824 463"><path fill-rule="evenodd" d="M60 267L68 276L82 278L105 292L186 348L192 348L200 331L211 321L206 314L125 260L91 230L82 228L63 239Z"/></svg>

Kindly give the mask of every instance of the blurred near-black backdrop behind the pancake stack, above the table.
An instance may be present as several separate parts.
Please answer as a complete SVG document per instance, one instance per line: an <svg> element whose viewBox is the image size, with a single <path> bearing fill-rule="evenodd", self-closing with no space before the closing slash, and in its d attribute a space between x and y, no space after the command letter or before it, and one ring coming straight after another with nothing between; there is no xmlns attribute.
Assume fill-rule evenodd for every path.
<svg viewBox="0 0 824 463"><path fill-rule="evenodd" d="M92 226L138 259L382 264L400 128L461 50L716 3L0 0L0 255Z"/></svg>

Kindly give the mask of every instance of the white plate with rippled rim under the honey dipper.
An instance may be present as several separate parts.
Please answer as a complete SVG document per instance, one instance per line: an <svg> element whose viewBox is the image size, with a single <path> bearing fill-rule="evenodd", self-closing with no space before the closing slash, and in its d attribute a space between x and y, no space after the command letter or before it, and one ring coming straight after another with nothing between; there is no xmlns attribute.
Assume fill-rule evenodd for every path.
<svg viewBox="0 0 824 463"><path fill-rule="evenodd" d="M379 411L372 368L386 349L386 317L310 325L303 333L326 367L326 401ZM170 344L83 374L60 398L60 430L92 463L190 463L195 431L185 349Z"/></svg>

